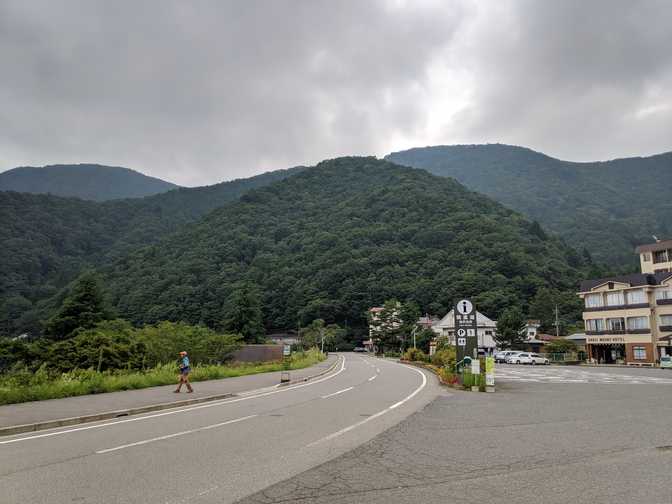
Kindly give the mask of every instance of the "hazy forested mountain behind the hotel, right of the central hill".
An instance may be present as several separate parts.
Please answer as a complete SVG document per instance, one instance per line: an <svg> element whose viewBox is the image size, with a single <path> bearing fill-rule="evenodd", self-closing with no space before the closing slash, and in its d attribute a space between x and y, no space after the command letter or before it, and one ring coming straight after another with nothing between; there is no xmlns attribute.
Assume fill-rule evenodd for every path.
<svg viewBox="0 0 672 504"><path fill-rule="evenodd" d="M573 163L492 144L415 148L386 159L453 177L611 266L635 267L635 246L652 234L672 236L672 152Z"/></svg>

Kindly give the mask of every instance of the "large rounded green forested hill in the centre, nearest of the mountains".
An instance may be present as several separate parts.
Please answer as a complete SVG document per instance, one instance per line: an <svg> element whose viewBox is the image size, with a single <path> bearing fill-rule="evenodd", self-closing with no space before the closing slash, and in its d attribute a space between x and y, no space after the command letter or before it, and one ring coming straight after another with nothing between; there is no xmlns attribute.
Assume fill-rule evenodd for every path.
<svg viewBox="0 0 672 504"><path fill-rule="evenodd" d="M473 297L491 316L544 286L570 303L581 259L538 225L449 178L375 158L340 158L249 191L102 268L134 323L219 327L242 284L268 330L314 318L363 328L396 297L445 312Z"/></svg>

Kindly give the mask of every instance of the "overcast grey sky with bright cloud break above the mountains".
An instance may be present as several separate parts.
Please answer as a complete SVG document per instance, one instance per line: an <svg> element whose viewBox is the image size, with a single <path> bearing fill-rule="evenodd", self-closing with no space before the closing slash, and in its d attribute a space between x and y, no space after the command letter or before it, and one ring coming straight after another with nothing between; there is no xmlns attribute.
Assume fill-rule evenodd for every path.
<svg viewBox="0 0 672 504"><path fill-rule="evenodd" d="M182 185L503 142L672 150L672 2L0 0L0 171Z"/></svg>

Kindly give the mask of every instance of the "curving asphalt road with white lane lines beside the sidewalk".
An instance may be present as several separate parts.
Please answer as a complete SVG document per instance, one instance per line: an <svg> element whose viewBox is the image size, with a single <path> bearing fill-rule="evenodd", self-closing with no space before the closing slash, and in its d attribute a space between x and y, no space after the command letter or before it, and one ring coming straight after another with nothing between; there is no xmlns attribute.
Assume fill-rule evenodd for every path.
<svg viewBox="0 0 672 504"><path fill-rule="evenodd" d="M358 354L314 381L0 439L0 502L225 503L347 453L441 391Z"/></svg>

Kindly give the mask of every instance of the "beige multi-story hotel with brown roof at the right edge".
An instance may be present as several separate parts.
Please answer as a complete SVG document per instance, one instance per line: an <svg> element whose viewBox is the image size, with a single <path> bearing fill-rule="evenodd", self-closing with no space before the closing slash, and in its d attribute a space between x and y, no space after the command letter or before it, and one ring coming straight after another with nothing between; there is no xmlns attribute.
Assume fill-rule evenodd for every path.
<svg viewBox="0 0 672 504"><path fill-rule="evenodd" d="M672 240L637 252L642 273L581 283L593 362L653 365L672 354Z"/></svg>

